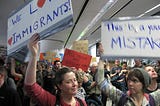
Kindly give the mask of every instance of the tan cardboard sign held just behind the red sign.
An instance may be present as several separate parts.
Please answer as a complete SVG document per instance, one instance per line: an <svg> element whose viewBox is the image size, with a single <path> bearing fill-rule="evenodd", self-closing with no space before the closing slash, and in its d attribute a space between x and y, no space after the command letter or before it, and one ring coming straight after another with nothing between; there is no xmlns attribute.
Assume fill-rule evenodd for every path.
<svg viewBox="0 0 160 106"><path fill-rule="evenodd" d="M73 42L73 50L88 54L88 40L79 40Z"/></svg>

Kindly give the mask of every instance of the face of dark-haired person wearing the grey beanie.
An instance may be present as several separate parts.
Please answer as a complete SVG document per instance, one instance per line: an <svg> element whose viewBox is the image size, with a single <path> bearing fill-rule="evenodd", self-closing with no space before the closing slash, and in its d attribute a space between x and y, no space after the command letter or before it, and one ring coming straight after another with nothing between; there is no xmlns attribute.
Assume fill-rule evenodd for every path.
<svg viewBox="0 0 160 106"><path fill-rule="evenodd" d="M127 85L131 94L137 94L143 90L143 84L136 77L133 77L131 80L127 80Z"/></svg>

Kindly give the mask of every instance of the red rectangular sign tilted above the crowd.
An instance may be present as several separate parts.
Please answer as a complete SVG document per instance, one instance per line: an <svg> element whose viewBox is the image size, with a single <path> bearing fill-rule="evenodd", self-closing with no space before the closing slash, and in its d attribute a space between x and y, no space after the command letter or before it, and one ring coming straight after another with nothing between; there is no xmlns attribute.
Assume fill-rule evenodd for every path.
<svg viewBox="0 0 160 106"><path fill-rule="evenodd" d="M62 65L68 67L81 68L83 71L87 71L92 56L80 53L74 50L66 49L62 60Z"/></svg>

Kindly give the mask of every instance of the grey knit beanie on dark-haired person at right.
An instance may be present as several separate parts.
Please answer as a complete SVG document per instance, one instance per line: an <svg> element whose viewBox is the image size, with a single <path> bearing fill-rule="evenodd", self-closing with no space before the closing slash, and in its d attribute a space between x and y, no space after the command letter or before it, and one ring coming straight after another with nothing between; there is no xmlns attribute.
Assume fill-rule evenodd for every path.
<svg viewBox="0 0 160 106"><path fill-rule="evenodd" d="M151 77L143 68L134 68L133 71L139 71L140 73L142 73L145 88L147 88L151 84Z"/></svg>

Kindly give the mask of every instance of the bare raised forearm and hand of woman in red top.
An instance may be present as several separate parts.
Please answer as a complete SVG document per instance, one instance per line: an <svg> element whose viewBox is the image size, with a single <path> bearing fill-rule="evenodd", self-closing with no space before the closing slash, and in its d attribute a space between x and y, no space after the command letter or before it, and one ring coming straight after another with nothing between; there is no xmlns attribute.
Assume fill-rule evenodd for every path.
<svg viewBox="0 0 160 106"><path fill-rule="evenodd" d="M33 85L36 82L36 66L37 66L37 55L39 50L39 35L36 33L34 34L29 42L28 42L28 49L31 52L29 57L29 62L25 74L25 84L26 85Z"/></svg>

